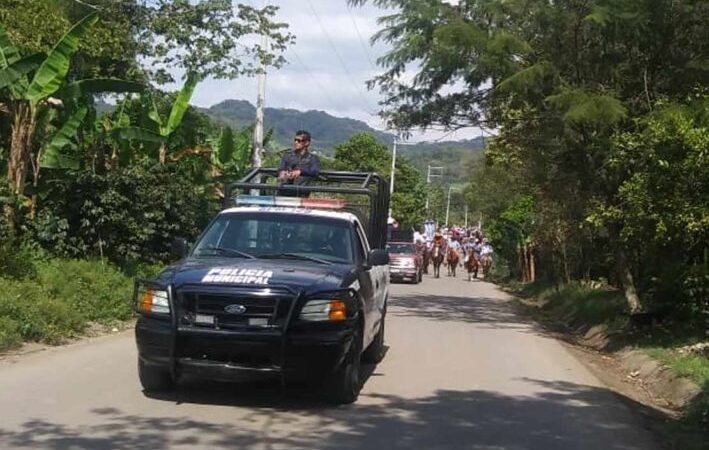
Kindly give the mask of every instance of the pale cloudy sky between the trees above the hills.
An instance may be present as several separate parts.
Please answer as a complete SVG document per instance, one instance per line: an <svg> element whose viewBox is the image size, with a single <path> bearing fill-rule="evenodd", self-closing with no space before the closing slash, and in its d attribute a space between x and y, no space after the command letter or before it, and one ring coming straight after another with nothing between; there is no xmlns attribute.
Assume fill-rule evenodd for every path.
<svg viewBox="0 0 709 450"><path fill-rule="evenodd" d="M239 0L260 7L264 0ZM376 113L381 96L368 90L367 80L382 71L376 60L387 51L382 43L371 45L379 29L377 18L385 12L371 5L352 8L345 0L268 0L280 7L276 20L289 24L295 43L284 53L288 60L271 69L266 80L266 106L317 109L337 117L351 117L373 128L384 125ZM255 78L205 80L195 91L193 103L209 107L227 99L256 103ZM415 133L412 141L468 139L477 129Z"/></svg>

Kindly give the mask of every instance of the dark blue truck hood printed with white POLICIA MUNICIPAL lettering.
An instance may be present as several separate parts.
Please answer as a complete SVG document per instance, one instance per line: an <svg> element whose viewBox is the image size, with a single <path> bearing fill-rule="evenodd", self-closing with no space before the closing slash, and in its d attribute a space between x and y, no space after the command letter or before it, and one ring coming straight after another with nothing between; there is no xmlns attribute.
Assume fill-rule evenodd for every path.
<svg viewBox="0 0 709 450"><path fill-rule="evenodd" d="M351 265L324 265L292 259L187 258L158 275L159 282L210 286L288 286L306 293L349 286L356 279Z"/></svg>

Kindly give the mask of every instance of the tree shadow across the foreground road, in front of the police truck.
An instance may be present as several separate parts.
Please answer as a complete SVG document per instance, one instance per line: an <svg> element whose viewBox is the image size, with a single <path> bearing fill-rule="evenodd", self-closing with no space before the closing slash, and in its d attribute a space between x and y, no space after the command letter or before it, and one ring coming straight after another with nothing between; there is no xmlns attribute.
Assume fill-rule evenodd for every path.
<svg viewBox="0 0 709 450"><path fill-rule="evenodd" d="M522 381L537 394L440 390L415 399L368 395L359 404L325 410L311 409L307 403L293 410L294 405L284 407L276 401L276 406L254 408L226 423L185 417L179 405L169 414L153 417L101 408L92 410L83 426L36 419L17 431L0 428L0 447L648 449L648 441L636 434L636 424L628 423L623 404L608 390ZM633 408L645 407L634 404Z"/></svg>

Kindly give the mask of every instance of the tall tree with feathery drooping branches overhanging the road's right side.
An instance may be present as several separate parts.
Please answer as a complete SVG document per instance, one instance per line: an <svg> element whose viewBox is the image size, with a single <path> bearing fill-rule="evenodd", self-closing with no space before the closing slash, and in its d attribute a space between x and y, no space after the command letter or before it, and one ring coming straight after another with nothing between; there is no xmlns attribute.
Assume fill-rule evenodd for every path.
<svg viewBox="0 0 709 450"><path fill-rule="evenodd" d="M389 124L495 128L487 156L502 167L514 164L533 196L534 207L525 214L538 224L532 237L545 272L561 279L595 273L618 280L631 312L644 308L643 294L657 296L651 286L663 270L653 259L660 253L631 239L631 210L619 206L620 198L646 204L640 186L651 188L642 180L653 178L635 164L643 159L632 150L636 147L618 143L630 136L652 142L644 134L640 139L638 121L656 124L646 118L658 103L686 105L706 84L709 5L692 0L373 3L394 10L376 35L392 50L380 59L383 73L371 82L386 97L383 115ZM407 69L416 75L404 77ZM656 144L650 147L668 145ZM669 147L687 148L679 142ZM634 164L618 164L628 153L635 155ZM684 185L681 177L674 180L667 186ZM695 187L709 195L704 186ZM510 212L495 212L493 220L502 221L505 211ZM596 220L601 216L607 220ZM706 249L705 242L699 247ZM688 262L695 251L675 252L673 261L697 264Z"/></svg>

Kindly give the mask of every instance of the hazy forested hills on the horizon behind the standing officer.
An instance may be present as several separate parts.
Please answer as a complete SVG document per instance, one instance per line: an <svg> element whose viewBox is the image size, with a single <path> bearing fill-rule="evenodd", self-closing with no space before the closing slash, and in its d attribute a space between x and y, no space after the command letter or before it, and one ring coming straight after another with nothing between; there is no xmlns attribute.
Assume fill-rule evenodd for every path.
<svg viewBox="0 0 709 450"><path fill-rule="evenodd" d="M253 124L256 107L246 100L225 100L204 112L238 130ZM273 129L275 145L287 146L296 130L305 129L313 134L314 148L326 154L333 154L336 144L359 132L371 133L387 144L394 140L393 134L375 130L361 120L335 117L324 111L266 108L264 120L266 129ZM402 146L400 151L425 168L428 164L456 166L466 154L482 147L481 139L473 139Z"/></svg>

